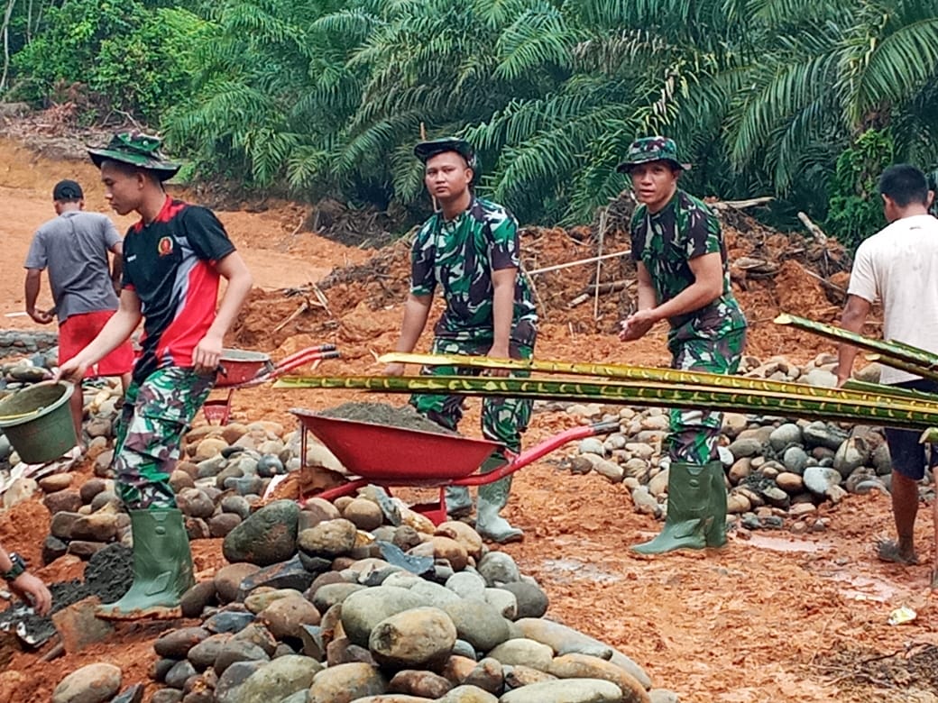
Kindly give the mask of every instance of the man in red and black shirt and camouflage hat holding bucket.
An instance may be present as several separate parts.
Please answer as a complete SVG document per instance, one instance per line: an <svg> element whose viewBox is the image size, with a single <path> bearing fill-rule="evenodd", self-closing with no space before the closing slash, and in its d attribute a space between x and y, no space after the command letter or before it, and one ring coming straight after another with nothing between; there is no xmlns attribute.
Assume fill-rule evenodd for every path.
<svg viewBox="0 0 938 703"><path fill-rule="evenodd" d="M192 557L169 477L192 417L215 383L222 337L250 292L250 272L212 212L170 198L163 181L178 164L160 141L138 133L90 149L106 197L119 215L141 220L124 238L120 307L98 337L61 366L81 379L144 320L117 440L117 492L129 509L134 579L127 594L100 606L106 618L135 618L178 606L193 583ZM218 302L219 281L228 286Z"/></svg>

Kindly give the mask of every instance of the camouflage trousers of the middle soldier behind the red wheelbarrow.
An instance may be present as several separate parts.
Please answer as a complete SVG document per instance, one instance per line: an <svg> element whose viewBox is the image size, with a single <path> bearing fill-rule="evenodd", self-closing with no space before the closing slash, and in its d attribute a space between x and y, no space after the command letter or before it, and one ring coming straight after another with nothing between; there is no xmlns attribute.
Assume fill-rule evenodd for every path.
<svg viewBox="0 0 938 703"><path fill-rule="evenodd" d="M433 340L434 354L461 354L484 356L492 347L491 342L458 341L437 337ZM534 347L511 343L511 358L530 359ZM462 366L425 366L421 373L431 376L452 374L478 376L483 369ZM513 376L528 376L526 372L513 372ZM462 419L464 396L420 394L411 396L410 403L416 410L437 425L455 430ZM521 451L522 433L531 420L534 401L529 398L494 397L482 398L482 436L487 440L504 444L512 452Z"/></svg>

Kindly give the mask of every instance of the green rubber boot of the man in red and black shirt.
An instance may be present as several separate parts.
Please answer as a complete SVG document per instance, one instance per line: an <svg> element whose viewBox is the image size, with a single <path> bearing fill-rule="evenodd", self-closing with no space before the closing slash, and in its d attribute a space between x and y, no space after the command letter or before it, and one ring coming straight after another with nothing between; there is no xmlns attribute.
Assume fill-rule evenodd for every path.
<svg viewBox="0 0 938 703"><path fill-rule="evenodd" d="M130 529L133 584L116 603L98 606L98 618L174 617L180 597L195 583L182 513L175 508L131 510Z"/></svg>

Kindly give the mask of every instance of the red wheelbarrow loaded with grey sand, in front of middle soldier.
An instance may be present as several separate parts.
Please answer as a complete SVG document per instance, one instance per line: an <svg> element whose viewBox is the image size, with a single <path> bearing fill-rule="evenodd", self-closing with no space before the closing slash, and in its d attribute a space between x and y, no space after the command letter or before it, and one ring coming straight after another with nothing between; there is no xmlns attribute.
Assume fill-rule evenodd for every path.
<svg viewBox="0 0 938 703"><path fill-rule="evenodd" d="M300 422L300 456L304 465L309 431L325 444L346 469L359 476L347 484L303 496L301 504L310 498L332 501L370 484L384 488L440 486L438 502L411 506L412 510L429 517L434 525L447 519L447 486L491 484L569 441L619 431L617 420L572 427L525 449L521 454L515 454L495 441L341 420L298 408L291 409L291 412ZM504 456L507 464L489 473L477 473L492 453Z"/></svg>

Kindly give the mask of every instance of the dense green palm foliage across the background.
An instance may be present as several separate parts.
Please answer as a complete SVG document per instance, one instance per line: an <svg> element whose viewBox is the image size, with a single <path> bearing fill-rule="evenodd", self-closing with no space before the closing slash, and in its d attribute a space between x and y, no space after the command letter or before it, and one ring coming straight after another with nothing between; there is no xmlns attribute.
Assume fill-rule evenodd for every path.
<svg viewBox="0 0 938 703"><path fill-rule="evenodd" d="M425 207L411 153L421 126L475 142L482 189L531 222L591 219L628 185L614 172L628 142L650 133L694 162L689 189L776 195L772 217L805 210L851 245L883 224L885 165L938 164L934 0L53 0L40 17L23 11L11 22L13 95L48 101L82 82L162 130L204 177L402 219Z"/></svg>

